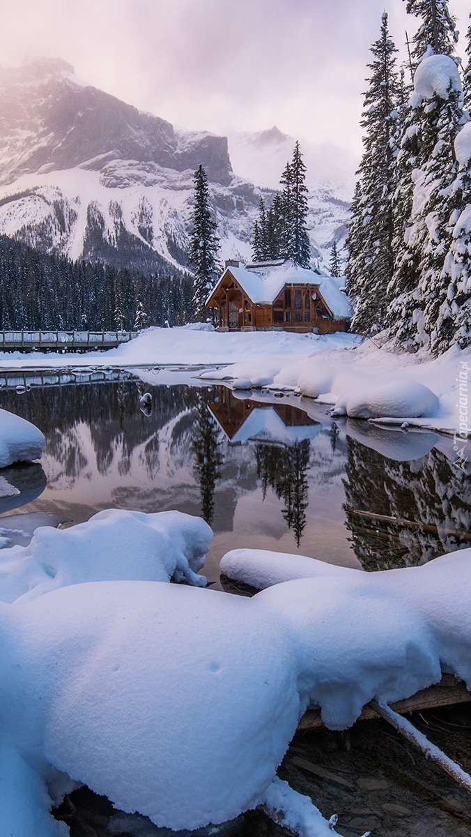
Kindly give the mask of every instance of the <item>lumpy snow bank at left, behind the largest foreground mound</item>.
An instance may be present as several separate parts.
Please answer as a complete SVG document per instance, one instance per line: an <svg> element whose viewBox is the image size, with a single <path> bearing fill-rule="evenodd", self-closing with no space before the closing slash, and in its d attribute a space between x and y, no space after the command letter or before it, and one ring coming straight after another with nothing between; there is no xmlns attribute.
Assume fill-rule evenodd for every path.
<svg viewBox="0 0 471 837"><path fill-rule="evenodd" d="M100 511L59 530L42 526L26 547L0 552L0 600L37 598L81 582L186 580L203 586L201 569L212 530L180 511Z"/></svg>

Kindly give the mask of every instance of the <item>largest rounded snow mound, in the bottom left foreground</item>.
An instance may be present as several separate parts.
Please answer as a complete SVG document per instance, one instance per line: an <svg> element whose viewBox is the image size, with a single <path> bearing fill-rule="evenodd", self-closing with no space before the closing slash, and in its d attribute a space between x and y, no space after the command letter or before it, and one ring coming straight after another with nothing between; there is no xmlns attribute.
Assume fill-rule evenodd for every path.
<svg viewBox="0 0 471 837"><path fill-rule="evenodd" d="M259 803L300 711L290 639L265 608L143 582L3 608L10 740L42 742L45 763L172 829Z"/></svg>

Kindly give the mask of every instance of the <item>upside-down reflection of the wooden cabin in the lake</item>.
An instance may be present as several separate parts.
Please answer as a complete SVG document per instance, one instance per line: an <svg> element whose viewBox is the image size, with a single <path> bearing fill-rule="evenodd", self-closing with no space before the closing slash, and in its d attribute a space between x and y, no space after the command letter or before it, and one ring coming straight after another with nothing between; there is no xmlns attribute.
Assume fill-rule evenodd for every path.
<svg viewBox="0 0 471 837"><path fill-rule="evenodd" d="M212 415L230 442L247 441L292 444L315 436L320 424L294 404L260 404L248 398L235 398L221 387L218 398L209 404Z"/></svg>

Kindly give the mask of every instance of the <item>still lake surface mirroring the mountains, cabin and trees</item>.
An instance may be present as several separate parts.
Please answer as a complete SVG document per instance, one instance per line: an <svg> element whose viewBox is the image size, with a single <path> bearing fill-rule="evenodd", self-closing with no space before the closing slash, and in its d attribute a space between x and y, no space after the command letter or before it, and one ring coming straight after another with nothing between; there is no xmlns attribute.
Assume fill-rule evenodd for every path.
<svg viewBox="0 0 471 837"><path fill-rule="evenodd" d="M144 391L150 414L141 411ZM469 544L469 484L453 465L453 444L447 455L437 434L335 424L314 404L305 413L294 396L264 399L222 386L144 390L131 376L3 391L3 408L46 436L48 485L25 511L74 522L112 506L202 515L215 531L212 580L237 547L380 569Z"/></svg>

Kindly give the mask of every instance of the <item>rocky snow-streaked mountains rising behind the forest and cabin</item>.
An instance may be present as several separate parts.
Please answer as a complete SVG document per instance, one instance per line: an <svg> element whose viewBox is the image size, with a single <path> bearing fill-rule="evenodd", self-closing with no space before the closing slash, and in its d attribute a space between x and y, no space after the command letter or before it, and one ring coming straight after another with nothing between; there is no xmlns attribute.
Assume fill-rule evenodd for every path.
<svg viewBox="0 0 471 837"><path fill-rule="evenodd" d="M259 184L253 166L257 156L269 159L280 174L294 147L276 128L231 141L238 176L226 137L177 130L79 80L60 59L0 69L0 114L0 234L43 252L144 272L162 259L185 264L200 163L223 258L250 259L259 196L269 203L276 186L273 178ZM334 239L341 245L347 218L345 188L311 189L312 254L320 264L328 263Z"/></svg>

